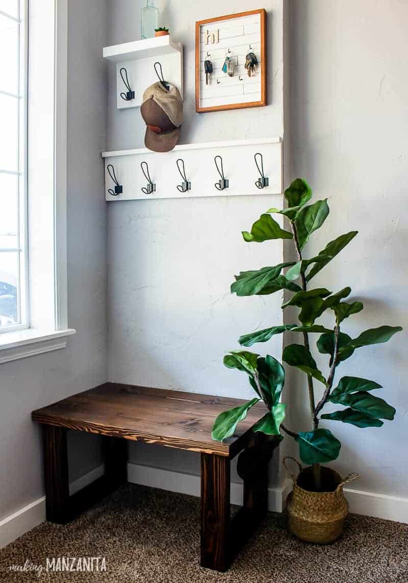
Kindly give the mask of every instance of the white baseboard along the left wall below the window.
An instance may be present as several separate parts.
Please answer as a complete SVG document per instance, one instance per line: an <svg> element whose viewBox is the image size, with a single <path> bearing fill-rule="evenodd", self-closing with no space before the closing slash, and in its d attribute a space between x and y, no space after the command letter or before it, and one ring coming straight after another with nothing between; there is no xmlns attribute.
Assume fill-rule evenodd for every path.
<svg viewBox="0 0 408 583"><path fill-rule="evenodd" d="M75 494L78 490L87 486L104 473L104 466L100 465L77 480L69 484L69 494ZM17 512L0 521L0 549L22 536L24 532L31 531L45 521L45 496L41 496L34 502L27 504Z"/></svg>

